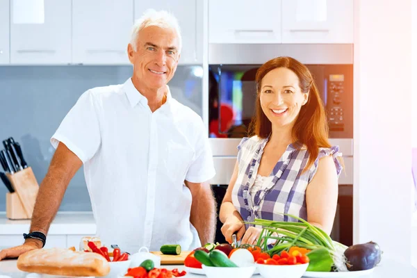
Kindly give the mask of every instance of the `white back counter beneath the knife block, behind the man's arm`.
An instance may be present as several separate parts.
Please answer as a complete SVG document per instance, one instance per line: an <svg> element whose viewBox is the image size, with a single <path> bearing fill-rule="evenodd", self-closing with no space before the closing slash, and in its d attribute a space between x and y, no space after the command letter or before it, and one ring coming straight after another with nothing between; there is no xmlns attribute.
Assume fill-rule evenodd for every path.
<svg viewBox="0 0 417 278"><path fill-rule="evenodd" d="M30 224L30 220L9 220L6 213L0 213L0 235L26 233ZM96 224L92 212L58 212L48 231L48 235L95 233Z"/></svg>

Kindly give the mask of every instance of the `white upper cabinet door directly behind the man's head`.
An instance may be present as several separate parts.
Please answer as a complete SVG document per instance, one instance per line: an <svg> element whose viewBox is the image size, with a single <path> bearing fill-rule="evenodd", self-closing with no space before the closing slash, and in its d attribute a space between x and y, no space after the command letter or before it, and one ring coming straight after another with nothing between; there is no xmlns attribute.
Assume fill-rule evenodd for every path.
<svg viewBox="0 0 417 278"><path fill-rule="evenodd" d="M167 10L181 28L180 64L201 64L203 60L203 1L199 0L135 0L135 19L149 8Z"/></svg>

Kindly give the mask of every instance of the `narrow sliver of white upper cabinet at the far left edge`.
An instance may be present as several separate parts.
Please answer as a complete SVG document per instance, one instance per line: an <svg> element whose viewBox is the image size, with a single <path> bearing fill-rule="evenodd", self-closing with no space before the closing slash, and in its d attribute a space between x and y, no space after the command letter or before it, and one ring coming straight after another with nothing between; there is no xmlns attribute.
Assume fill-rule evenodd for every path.
<svg viewBox="0 0 417 278"><path fill-rule="evenodd" d="M0 65L10 63L9 0L0 0Z"/></svg>

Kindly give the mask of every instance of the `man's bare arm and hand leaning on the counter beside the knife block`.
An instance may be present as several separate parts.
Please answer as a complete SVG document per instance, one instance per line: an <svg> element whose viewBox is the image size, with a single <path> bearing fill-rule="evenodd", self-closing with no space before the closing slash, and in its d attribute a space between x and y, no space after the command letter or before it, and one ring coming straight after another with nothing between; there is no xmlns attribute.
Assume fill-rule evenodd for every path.
<svg viewBox="0 0 417 278"><path fill-rule="evenodd" d="M42 231L47 234L52 220L64 197L65 190L76 171L83 165L81 160L70 151L63 143L59 143L47 175L44 177L31 220L30 231ZM41 248L42 242L33 238L27 238L24 245L0 251L0 261L5 258L15 258L30 250Z"/></svg>

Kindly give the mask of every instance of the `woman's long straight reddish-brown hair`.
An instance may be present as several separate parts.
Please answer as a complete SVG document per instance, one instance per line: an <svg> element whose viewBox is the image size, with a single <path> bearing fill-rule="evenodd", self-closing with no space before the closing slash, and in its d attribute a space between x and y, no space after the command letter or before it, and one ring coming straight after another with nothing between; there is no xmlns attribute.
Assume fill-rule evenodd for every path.
<svg viewBox="0 0 417 278"><path fill-rule="evenodd" d="M305 145L310 156L306 165L309 169L318 156L319 147L330 147L329 128L327 126L325 108L320 99L316 83L309 69L302 63L291 57L277 57L263 64L256 72L256 107L254 119L251 123L250 134L259 138L268 138L272 132L272 124L261 108L261 82L263 77L277 67L286 67L297 74L302 93L309 92L309 99L301 107L300 113L293 126L293 139L296 147ZM304 172L304 171L303 171Z"/></svg>

